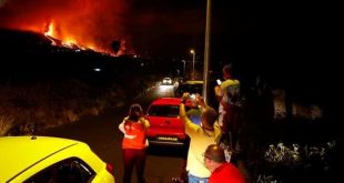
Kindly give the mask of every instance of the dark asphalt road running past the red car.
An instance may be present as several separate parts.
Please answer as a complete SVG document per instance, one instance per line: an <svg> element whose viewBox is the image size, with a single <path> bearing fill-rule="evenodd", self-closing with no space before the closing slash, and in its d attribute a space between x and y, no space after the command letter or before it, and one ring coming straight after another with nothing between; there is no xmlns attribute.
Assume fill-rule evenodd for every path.
<svg viewBox="0 0 344 183"><path fill-rule="evenodd" d="M133 102L142 104L144 110L149 103L160 96L173 96L173 88L154 87ZM69 138L87 142L104 161L114 166L115 181L122 182L123 163L121 152L122 133L118 125L128 114L129 105L108 111L98 116L88 116L75 123L41 132L41 135ZM148 183L170 183L179 176L183 163L183 151L179 148L150 146L144 175ZM132 183L136 182L133 173Z"/></svg>

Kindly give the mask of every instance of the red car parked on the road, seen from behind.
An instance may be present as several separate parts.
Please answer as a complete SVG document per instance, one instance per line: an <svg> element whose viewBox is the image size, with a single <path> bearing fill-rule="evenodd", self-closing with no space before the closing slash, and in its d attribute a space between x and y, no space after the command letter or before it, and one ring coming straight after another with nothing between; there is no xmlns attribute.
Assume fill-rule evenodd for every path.
<svg viewBox="0 0 344 183"><path fill-rule="evenodd" d="M148 139L151 144L159 145L184 145L186 141L186 134L184 126L179 118L180 98L161 98L153 101L148 108L145 118L150 121L150 128L148 130ZM193 116L196 114L195 121L200 121L200 109L192 103L186 102L186 111L192 112ZM192 118L192 116L190 116Z"/></svg>

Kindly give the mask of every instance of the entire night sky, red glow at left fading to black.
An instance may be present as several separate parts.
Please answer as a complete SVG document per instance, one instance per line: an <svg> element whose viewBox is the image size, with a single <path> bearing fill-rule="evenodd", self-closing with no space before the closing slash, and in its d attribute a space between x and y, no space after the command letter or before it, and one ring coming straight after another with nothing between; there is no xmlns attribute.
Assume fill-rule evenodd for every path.
<svg viewBox="0 0 344 183"><path fill-rule="evenodd" d="M234 63L316 93L340 93L337 4L314 1L212 0L211 67ZM129 53L202 62L206 0L1 0L0 26L41 26L47 18L81 39ZM63 22L68 21L68 23ZM77 29L78 28L78 29Z"/></svg>

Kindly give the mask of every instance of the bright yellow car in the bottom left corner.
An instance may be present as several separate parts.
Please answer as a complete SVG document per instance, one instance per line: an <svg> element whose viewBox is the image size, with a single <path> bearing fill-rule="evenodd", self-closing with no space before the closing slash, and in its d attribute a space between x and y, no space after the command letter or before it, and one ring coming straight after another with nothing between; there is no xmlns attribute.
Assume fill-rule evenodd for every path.
<svg viewBox="0 0 344 183"><path fill-rule="evenodd" d="M113 170L83 142L49 136L0 138L0 182L113 183Z"/></svg>

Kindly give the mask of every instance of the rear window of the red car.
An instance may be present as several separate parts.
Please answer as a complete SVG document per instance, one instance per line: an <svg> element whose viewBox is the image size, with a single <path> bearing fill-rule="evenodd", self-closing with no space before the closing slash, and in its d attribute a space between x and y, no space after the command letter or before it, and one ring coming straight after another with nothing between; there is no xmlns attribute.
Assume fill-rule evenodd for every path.
<svg viewBox="0 0 344 183"><path fill-rule="evenodd" d="M179 115L179 105L152 105L148 115L175 118Z"/></svg>

